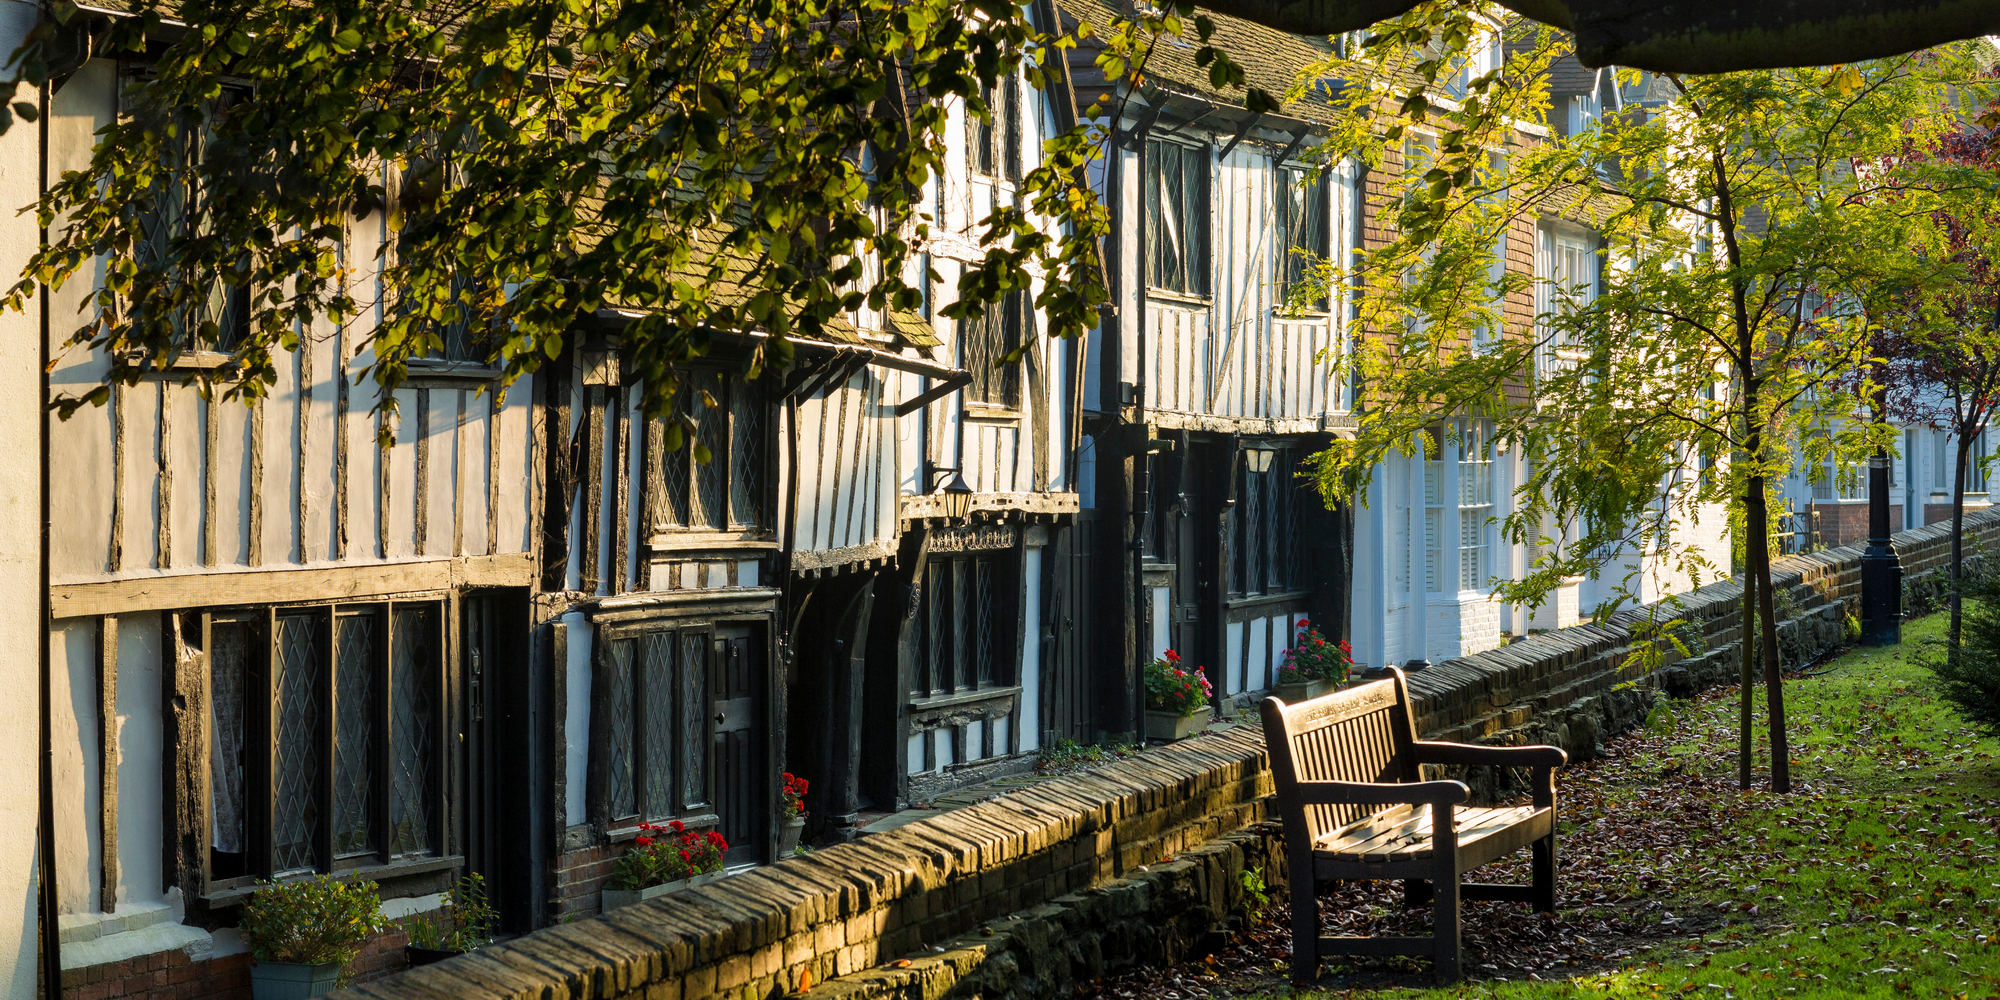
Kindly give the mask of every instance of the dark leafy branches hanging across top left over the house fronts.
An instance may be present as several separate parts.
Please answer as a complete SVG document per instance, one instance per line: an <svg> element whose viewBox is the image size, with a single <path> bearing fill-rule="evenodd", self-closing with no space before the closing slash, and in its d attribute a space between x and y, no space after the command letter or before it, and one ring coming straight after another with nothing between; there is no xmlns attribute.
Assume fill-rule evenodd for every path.
<svg viewBox="0 0 2000 1000"><path fill-rule="evenodd" d="M756 374L862 306L914 310L946 102L988 116L1016 70L1058 86L1074 44L1048 4L1008 0L184 0L88 18L40 26L22 80L46 84L84 30L144 76L90 164L42 198L60 226L6 306L102 272L70 344L110 356L108 382L220 348L226 366L186 378L246 398L300 330L378 308L384 408L448 336L510 384L606 306L638 316L622 350L650 412L714 332L768 336ZM1206 40L1208 24L1170 6L1098 30L1120 78L1160 34ZM1204 64L1242 80L1206 46ZM1082 178L1102 142L1086 122L1044 146L1018 206L980 222L986 256L950 316L1042 274L1050 334L1096 322L1106 214ZM342 234L384 204L394 236L374 266L392 292L360 302ZM218 288L242 290L240 336L222 336Z"/></svg>

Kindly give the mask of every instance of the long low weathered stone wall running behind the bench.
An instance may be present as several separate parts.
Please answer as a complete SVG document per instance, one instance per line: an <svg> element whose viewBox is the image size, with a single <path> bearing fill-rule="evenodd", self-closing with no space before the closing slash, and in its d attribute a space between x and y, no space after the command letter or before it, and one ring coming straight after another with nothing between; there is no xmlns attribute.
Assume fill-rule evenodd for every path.
<svg viewBox="0 0 2000 1000"><path fill-rule="evenodd" d="M1966 550L2000 544L2000 512L1968 516ZM1896 536L1912 598L1934 598L1948 526ZM1844 642L1860 550L1786 558L1776 584L1788 662ZM1534 636L1412 676L1434 738L1554 742L1590 756L1658 692L1736 678L1742 590L1684 594L1656 614ZM1688 656L1646 670L1634 630L1684 620ZM1492 792L1496 778L1468 776ZM1198 952L1234 920L1244 872L1282 882L1264 818L1254 726L1010 792L854 844L528 934L338 996L480 998L1050 998L1142 962Z"/></svg>

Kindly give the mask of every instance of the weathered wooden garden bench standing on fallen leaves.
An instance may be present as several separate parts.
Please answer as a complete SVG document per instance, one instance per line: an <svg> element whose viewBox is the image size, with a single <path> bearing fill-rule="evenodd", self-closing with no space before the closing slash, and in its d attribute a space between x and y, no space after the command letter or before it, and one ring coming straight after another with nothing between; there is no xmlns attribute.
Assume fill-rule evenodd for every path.
<svg viewBox="0 0 2000 1000"><path fill-rule="evenodd" d="M1320 976L1336 954L1428 954L1438 978L1458 978L1458 900L1520 900L1556 910L1554 746L1470 746L1416 738L1410 688L1390 678L1298 704L1264 698L1264 742L1284 820L1292 890L1292 982ZM1532 806L1464 806L1464 782L1418 780L1418 764L1534 768ZM1532 886L1460 884L1494 858L1534 846ZM1320 884L1396 878L1408 902L1428 894L1430 938L1320 936Z"/></svg>

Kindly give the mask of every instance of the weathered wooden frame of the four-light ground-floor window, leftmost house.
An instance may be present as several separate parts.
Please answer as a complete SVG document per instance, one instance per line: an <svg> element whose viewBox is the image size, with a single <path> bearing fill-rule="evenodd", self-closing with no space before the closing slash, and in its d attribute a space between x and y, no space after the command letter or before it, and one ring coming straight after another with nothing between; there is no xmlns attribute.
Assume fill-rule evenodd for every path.
<svg viewBox="0 0 2000 1000"><path fill-rule="evenodd" d="M184 620L192 622L190 632L200 636L200 656L194 664L184 666L186 670L196 670L200 674L198 690L202 692L200 712L204 742L200 746L172 746L172 754L180 758L182 770L192 770L204 776L198 782L200 802L194 804L194 818L200 826L196 832L200 838L202 862L196 872L182 872L182 884L194 884L200 894L200 904L206 908L232 906L248 898L254 892L256 882L262 878L294 880L310 878L320 872L336 872L344 876L368 878L374 882L384 882L384 886L394 886L400 880L410 880L408 892L432 892L432 882L438 872L456 870L464 864L460 832L456 816L452 810L454 788L460 784L460 760L458 742L452 734L458 732L460 710L460 656L458 656L458 628L456 628L456 600L450 592L418 592L400 594L396 598L374 598L374 600L324 600L324 602L300 602L300 604L268 604L254 608L208 608L182 612ZM432 790L428 796L430 808L430 850L420 854L394 854L390 846L390 816L394 796L394 644L396 644L396 612L408 606L428 606L436 614L436 642L438 654L430 668L436 670L436 704L430 706L432 724L432 746L430 746L430 766L432 766ZM372 746L370 746L370 820L368 838L370 848L366 852L354 852L342 858L334 854L334 766L336 766L336 672L338 672L338 626L336 620L342 614L352 614L366 610L376 614L382 626L376 654L372 658ZM324 628L324 652L316 656L316 684L320 684L320 706L314 718L314 740L318 744L316 768L316 808L318 808L318 830L314 832L312 852L314 864L304 870L278 870L276 868L276 840L274 840L274 800L276 790L276 752L278 740L274 734L276 720L272 718L276 708L272 706L272 678L278 670L278 618L294 614L312 614ZM212 746L214 734L208 728L208 718L214 712L212 704L212 652L214 652L214 626L216 624L244 624L254 628L258 644L252 646L250 658L244 664L244 874L236 876L214 876L216 860L212 854L212 822L214 822L214 786L208 780L212 776ZM190 878L192 876L192 878ZM430 876L430 878L426 878ZM404 892L404 894L408 894Z"/></svg>

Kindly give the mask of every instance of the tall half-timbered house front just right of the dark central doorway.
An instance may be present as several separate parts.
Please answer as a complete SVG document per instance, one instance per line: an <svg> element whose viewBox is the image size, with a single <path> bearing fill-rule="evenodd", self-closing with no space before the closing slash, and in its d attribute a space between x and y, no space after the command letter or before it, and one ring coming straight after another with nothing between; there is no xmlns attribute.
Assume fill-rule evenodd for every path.
<svg viewBox="0 0 2000 1000"><path fill-rule="evenodd" d="M1052 10L1036 4L1032 16ZM1050 70L1044 86L1022 72L1000 80L984 94L986 116L966 102L946 108L926 254L940 342L928 356L964 382L904 370L896 388L928 402L898 424L902 536L876 590L868 712L854 720L874 810L1022 770L1044 734L1098 732L1086 598L1098 524L1078 516L1076 470L1082 348L1044 334L1038 282L976 318L942 318L964 268L984 256L986 216L1022 206L1042 142L1074 120L1066 68Z"/></svg>

